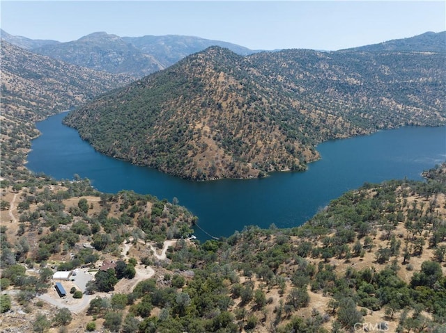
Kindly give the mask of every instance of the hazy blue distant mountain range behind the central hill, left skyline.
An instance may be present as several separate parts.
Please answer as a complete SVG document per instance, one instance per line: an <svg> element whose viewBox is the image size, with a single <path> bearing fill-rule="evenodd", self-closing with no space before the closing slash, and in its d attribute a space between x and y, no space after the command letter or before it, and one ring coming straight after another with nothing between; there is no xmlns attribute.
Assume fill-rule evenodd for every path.
<svg viewBox="0 0 446 333"><path fill-rule="evenodd" d="M163 70L185 56L213 45L227 47L243 56L255 52L229 42L183 35L121 38L118 35L96 32L71 42L56 42L30 40L5 31L2 31L2 35L3 33L8 42L38 54L93 70L136 77Z"/></svg>

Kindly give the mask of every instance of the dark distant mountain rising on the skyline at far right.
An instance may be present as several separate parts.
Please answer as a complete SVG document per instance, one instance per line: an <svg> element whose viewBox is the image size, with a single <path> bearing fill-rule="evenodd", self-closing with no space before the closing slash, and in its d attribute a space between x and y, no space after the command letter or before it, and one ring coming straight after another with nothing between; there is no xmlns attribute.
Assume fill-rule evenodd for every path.
<svg viewBox="0 0 446 333"><path fill-rule="evenodd" d="M446 31L433 33L431 31L410 38L388 40L378 44L355 47L355 51L420 51L445 52Z"/></svg>

